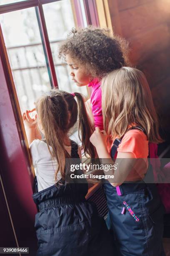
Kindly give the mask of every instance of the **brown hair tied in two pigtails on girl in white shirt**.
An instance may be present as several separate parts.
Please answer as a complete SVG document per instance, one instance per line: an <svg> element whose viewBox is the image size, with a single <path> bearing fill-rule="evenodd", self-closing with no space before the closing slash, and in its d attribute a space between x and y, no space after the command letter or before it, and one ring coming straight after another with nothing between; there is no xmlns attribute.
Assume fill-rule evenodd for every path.
<svg viewBox="0 0 170 256"><path fill-rule="evenodd" d="M77 102L73 95L77 97ZM76 123L77 115L85 152L92 157L95 155L94 147L87 139L91 135L91 127L88 122L84 99L78 92L73 95L65 91L52 89L49 95L40 97L36 102L37 114L45 133L48 150L52 158L57 159L56 182L59 171L62 179L65 179L65 159L70 158L70 155L65 149L64 141L68 131Z"/></svg>

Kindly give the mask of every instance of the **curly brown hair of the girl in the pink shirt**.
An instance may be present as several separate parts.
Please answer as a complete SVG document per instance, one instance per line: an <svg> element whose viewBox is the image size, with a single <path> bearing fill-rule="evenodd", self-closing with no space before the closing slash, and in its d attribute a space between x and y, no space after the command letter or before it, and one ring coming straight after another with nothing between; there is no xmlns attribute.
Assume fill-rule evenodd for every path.
<svg viewBox="0 0 170 256"><path fill-rule="evenodd" d="M66 55L85 66L92 78L102 78L112 70L128 65L128 43L120 36L110 36L104 28L72 28L61 44L59 58Z"/></svg>

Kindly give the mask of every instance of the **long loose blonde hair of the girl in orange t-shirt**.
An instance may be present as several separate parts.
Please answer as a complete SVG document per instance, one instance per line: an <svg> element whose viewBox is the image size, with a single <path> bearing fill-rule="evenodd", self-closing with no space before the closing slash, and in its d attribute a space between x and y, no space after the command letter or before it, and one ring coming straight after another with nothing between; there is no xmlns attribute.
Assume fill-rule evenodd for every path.
<svg viewBox="0 0 170 256"><path fill-rule="evenodd" d="M101 86L104 129L112 138L121 138L134 124L144 129L150 142L162 142L158 117L143 72L122 67L104 77Z"/></svg>

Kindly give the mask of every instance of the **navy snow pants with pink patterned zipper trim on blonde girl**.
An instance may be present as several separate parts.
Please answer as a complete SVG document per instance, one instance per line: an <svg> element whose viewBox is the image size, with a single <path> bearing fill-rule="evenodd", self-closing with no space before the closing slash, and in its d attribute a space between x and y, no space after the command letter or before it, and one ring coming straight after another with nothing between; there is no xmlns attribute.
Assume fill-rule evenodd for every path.
<svg viewBox="0 0 170 256"><path fill-rule="evenodd" d="M109 182L103 185L108 218L121 256L165 256L163 214L155 184L123 183L121 195Z"/></svg>

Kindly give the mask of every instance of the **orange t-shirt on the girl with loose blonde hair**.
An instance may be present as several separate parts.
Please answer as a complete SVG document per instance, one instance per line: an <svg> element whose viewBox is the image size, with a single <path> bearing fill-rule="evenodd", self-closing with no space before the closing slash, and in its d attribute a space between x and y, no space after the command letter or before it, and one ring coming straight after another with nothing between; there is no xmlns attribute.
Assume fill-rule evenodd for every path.
<svg viewBox="0 0 170 256"><path fill-rule="evenodd" d="M144 178L148 168L149 144L145 133L140 130L130 130L125 133L117 152L133 153L134 158L140 158L126 178L126 181L138 181ZM141 162L140 162L141 161Z"/></svg>

